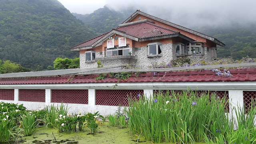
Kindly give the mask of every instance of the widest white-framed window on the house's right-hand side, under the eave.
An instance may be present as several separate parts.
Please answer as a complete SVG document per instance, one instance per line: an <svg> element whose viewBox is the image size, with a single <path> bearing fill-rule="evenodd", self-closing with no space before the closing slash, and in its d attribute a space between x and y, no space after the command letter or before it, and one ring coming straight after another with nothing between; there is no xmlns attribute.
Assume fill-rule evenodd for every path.
<svg viewBox="0 0 256 144"><path fill-rule="evenodd" d="M186 55L202 55L202 43L199 42L191 42L186 44Z"/></svg>

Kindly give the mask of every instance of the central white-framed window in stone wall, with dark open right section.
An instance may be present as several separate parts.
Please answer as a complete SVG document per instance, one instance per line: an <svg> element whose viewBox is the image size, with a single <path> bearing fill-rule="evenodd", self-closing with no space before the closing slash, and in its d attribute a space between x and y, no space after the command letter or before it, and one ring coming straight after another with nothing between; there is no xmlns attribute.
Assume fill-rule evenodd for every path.
<svg viewBox="0 0 256 144"><path fill-rule="evenodd" d="M162 43L153 42L148 44L147 52L148 56L162 56Z"/></svg>

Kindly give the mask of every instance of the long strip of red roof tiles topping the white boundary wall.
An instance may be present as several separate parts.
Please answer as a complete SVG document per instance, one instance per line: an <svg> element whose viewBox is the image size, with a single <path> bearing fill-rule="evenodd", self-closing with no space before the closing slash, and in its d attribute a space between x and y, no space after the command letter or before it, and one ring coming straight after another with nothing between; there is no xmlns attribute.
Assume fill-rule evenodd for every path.
<svg viewBox="0 0 256 144"><path fill-rule="evenodd" d="M127 80L120 82L243 82L256 81L256 68L230 70L232 77L216 76L210 70L161 72L140 74L138 77L132 74ZM38 78L2 78L0 84L65 84L65 83L116 83L116 78L96 80L97 75L88 76L56 76Z"/></svg>

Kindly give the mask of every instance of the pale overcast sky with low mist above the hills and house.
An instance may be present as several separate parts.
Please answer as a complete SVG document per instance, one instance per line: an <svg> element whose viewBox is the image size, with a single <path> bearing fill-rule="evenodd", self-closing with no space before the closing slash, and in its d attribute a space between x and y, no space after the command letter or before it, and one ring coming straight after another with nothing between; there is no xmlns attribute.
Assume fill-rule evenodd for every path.
<svg viewBox="0 0 256 144"><path fill-rule="evenodd" d="M90 14L107 4L114 10L131 6L183 25L256 22L256 0L58 0L70 12Z"/></svg>

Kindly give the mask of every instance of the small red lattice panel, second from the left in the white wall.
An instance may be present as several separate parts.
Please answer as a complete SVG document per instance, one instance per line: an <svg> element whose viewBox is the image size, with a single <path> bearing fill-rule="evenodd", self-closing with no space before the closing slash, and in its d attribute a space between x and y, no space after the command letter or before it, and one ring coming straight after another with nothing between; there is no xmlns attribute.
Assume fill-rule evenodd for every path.
<svg viewBox="0 0 256 144"><path fill-rule="evenodd" d="M45 102L45 90L19 90L19 101Z"/></svg>

